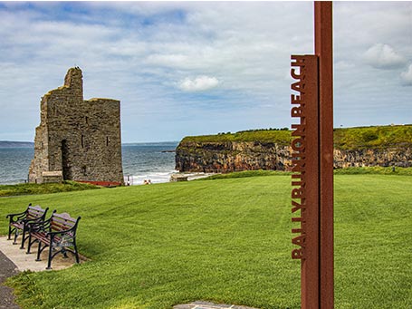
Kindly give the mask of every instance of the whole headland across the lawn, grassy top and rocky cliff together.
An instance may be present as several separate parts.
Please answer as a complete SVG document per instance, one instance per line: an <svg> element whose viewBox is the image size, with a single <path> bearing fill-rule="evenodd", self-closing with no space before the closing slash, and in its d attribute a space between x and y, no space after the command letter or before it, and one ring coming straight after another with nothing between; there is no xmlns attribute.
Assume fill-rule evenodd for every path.
<svg viewBox="0 0 412 309"><path fill-rule="evenodd" d="M292 169L292 131L244 130L188 136L176 150L180 172ZM412 167L412 125L340 128L333 132L334 168Z"/></svg>

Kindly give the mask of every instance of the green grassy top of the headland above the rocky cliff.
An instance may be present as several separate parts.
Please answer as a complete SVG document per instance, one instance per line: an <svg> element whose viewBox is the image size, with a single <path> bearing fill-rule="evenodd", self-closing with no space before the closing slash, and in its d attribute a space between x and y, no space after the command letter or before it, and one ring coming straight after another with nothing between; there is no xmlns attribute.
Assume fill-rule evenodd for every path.
<svg viewBox="0 0 412 309"><path fill-rule="evenodd" d="M334 129L334 147L338 150L412 147L412 125L374 126ZM290 145L292 130L247 130L236 133L188 136L186 142L260 141Z"/></svg>

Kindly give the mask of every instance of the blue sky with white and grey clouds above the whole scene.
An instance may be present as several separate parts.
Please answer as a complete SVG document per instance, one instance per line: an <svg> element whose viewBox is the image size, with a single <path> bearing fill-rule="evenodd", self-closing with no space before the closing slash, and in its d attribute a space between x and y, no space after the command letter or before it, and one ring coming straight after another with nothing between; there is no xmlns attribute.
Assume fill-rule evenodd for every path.
<svg viewBox="0 0 412 309"><path fill-rule="evenodd" d="M412 2L336 2L334 126L412 123ZM83 72L122 141L290 127L312 2L0 2L0 140L34 140L44 93Z"/></svg>

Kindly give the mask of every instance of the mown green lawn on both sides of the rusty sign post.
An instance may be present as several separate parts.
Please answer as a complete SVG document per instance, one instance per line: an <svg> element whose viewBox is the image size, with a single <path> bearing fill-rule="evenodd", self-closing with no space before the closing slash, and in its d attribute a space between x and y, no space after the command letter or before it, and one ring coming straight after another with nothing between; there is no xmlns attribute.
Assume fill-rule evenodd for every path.
<svg viewBox="0 0 412 309"><path fill-rule="evenodd" d="M81 216L90 262L9 281L24 308L300 307L291 179L267 176L0 198ZM335 176L335 308L410 308L412 177ZM34 257L35 258L35 257Z"/></svg>

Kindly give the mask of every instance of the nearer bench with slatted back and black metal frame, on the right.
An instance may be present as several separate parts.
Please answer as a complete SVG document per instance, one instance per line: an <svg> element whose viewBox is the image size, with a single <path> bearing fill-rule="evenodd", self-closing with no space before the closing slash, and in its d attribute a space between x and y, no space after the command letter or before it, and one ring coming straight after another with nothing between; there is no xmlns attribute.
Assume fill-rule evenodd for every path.
<svg viewBox="0 0 412 309"><path fill-rule="evenodd" d="M79 220L70 217L67 213L56 214L48 220L34 222L29 228L29 246L27 254L30 254L30 249L35 242L39 243L37 249L36 261L41 261L40 255L48 246L49 257L46 269L52 269L53 257L62 253L67 257L67 252L71 252L76 257L76 263L79 263L79 254L76 246L76 231Z"/></svg>

